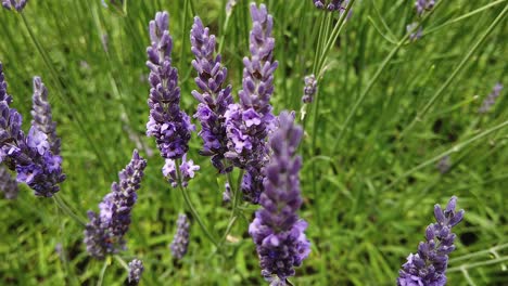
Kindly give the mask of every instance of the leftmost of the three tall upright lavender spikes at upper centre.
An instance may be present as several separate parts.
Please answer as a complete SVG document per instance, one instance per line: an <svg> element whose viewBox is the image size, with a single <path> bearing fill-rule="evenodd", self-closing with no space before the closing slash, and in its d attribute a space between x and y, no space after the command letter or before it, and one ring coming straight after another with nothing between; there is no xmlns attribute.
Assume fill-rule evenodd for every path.
<svg viewBox="0 0 508 286"><path fill-rule="evenodd" d="M165 159L179 159L189 150L189 140L194 126L189 116L180 110L180 88L177 69L172 66L173 39L169 36L169 15L157 12L150 22L152 46L147 49L150 68L150 107L147 135L154 136Z"/></svg>

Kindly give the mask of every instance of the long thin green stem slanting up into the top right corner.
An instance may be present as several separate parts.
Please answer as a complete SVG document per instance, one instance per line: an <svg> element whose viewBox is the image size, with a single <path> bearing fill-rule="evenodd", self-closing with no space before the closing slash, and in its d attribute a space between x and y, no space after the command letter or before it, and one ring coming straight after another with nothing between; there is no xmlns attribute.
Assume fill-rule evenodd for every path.
<svg viewBox="0 0 508 286"><path fill-rule="evenodd" d="M446 79L446 81L441 86L441 88L434 93L431 100L420 109L420 112L415 116L412 121L403 130L399 135L399 139L403 138L414 126L416 122L421 121L423 116L429 112L430 107L435 103L435 101L444 94L444 91L452 84L454 79L459 75L459 73L463 69L467 63L470 62L472 55L477 50L482 46L485 39L491 35L494 28L501 22L501 20L506 16L508 12L508 5L503 9L503 11L497 15L497 17L492 22L491 26L488 26L487 30L480 37L480 39L474 43L474 46L468 51L466 56L459 63L459 65L455 68L452 75Z"/></svg>

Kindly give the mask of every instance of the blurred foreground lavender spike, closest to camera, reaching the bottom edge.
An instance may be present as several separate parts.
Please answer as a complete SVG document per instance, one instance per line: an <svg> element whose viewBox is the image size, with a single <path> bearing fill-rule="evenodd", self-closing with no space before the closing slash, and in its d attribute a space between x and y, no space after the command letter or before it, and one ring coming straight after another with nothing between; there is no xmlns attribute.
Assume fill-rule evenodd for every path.
<svg viewBox="0 0 508 286"><path fill-rule="evenodd" d="M296 213L302 206L299 172L302 157L296 155L303 129L294 125L294 115L282 112L279 128L270 135L272 156L264 169L262 193L249 233L256 244L262 275L272 285L285 285L295 266L310 252L304 231L307 222Z"/></svg>

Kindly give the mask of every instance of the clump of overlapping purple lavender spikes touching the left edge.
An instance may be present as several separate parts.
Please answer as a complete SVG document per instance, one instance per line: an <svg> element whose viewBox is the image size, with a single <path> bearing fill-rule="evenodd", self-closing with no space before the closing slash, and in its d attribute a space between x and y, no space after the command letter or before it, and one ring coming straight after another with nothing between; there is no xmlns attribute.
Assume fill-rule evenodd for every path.
<svg viewBox="0 0 508 286"><path fill-rule="evenodd" d="M38 123L40 119L54 128L51 108L47 101L39 102L41 96L39 96L38 88L35 86L34 121L28 135L25 135L21 129L22 116L16 109L10 107L12 98L7 93L7 83L0 63L0 162L4 161L11 170L15 170L17 181L26 183L34 190L35 195L51 197L60 191L59 183L65 180L65 174L62 173L62 157L52 152L55 150L54 142L60 142L54 135L54 129L52 133L47 134L45 131L50 129L42 129ZM46 108L41 108L42 105L39 103ZM48 135L54 135L54 138L50 140ZM60 147L58 150L60 151Z"/></svg>

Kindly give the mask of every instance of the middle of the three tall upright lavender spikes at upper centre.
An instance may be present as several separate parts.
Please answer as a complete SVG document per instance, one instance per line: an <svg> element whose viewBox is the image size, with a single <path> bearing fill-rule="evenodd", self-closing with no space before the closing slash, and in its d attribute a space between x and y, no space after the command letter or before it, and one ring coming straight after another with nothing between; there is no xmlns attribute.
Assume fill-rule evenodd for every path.
<svg viewBox="0 0 508 286"><path fill-rule="evenodd" d="M200 102L194 117L201 122L200 136L204 146L201 154L212 157L212 164L219 172L231 171L224 165L224 154L228 151L225 126L225 113L229 104L233 103L231 86L225 86L228 74L220 64L220 55L214 57L216 40L209 30L203 27L199 17L194 18L191 29L191 50L195 55L192 66L198 72L194 79L200 91L192 91L192 95Z"/></svg>

